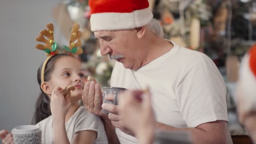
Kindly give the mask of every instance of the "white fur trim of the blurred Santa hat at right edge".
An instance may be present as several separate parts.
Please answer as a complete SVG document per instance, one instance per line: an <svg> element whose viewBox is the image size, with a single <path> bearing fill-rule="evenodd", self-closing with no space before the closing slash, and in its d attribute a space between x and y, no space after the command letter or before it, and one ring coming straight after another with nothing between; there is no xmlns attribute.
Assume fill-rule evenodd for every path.
<svg viewBox="0 0 256 144"><path fill-rule="evenodd" d="M249 55L246 54L243 57L240 68L240 76L239 76L239 85L241 89L238 91L243 98L245 104L241 105L243 111L256 111L256 77L252 73L251 68L249 67Z"/></svg>

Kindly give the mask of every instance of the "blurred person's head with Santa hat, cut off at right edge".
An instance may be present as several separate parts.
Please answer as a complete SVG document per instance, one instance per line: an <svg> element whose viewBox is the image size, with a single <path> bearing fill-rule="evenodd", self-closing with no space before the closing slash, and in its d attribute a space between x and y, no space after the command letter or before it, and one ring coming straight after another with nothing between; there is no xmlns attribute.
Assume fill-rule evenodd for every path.
<svg viewBox="0 0 256 144"><path fill-rule="evenodd" d="M243 57L237 82L239 120L256 142L256 44Z"/></svg>

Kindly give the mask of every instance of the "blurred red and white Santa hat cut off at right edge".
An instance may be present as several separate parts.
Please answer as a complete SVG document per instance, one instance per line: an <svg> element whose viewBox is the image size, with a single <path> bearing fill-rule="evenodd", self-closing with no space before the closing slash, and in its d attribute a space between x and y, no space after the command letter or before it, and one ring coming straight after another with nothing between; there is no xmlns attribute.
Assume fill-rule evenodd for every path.
<svg viewBox="0 0 256 144"><path fill-rule="evenodd" d="M256 44L243 57L240 68L239 92L245 104L243 110L256 111Z"/></svg>

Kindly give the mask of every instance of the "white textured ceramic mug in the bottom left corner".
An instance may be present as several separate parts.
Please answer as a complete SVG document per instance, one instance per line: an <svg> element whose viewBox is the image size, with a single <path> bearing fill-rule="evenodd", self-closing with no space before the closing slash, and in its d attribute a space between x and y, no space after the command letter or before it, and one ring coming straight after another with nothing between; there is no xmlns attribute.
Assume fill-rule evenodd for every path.
<svg viewBox="0 0 256 144"><path fill-rule="evenodd" d="M40 144L42 141L42 131L38 125L20 125L11 130L15 144Z"/></svg>

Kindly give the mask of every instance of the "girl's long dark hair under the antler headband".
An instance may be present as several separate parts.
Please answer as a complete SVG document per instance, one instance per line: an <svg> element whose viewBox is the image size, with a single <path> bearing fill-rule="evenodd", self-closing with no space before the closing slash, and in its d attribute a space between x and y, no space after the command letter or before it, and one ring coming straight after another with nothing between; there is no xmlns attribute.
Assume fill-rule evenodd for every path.
<svg viewBox="0 0 256 144"><path fill-rule="evenodd" d="M54 55L51 57L48 61L48 63L45 66L44 71L44 81L49 81L51 79L51 73L53 73L53 70L55 68L55 63L57 59L63 56L70 56L66 53L61 53ZM40 87L40 94L36 101L36 110L34 111L34 116L32 118L32 124L36 124L43 119L49 117L51 115L51 109L50 109L50 98L46 93L43 92L41 88L41 71L42 71L43 63L40 65L40 67L37 70L37 82Z"/></svg>

